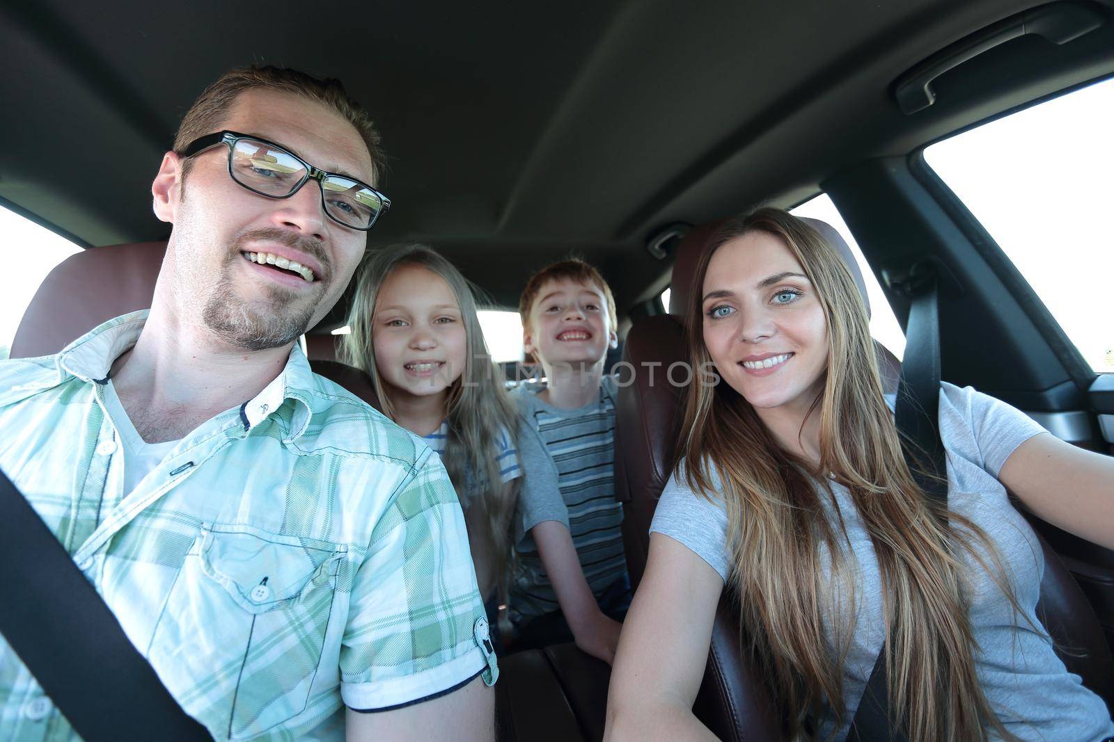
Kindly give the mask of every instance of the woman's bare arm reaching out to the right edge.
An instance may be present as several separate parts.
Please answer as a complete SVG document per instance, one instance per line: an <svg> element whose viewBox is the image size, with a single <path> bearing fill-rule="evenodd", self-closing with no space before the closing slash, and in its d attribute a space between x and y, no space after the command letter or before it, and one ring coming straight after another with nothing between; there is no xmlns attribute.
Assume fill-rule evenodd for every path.
<svg viewBox="0 0 1114 742"><path fill-rule="evenodd" d="M1009 455L998 479L1040 520L1114 548L1114 458L1042 433Z"/></svg>

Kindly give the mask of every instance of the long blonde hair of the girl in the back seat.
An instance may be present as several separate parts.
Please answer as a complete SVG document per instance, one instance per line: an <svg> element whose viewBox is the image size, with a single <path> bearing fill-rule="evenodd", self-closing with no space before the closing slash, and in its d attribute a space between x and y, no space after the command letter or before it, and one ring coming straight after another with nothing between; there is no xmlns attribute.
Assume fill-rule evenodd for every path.
<svg viewBox="0 0 1114 742"><path fill-rule="evenodd" d="M348 317L350 332L343 336L340 356L371 377L383 414L394 419L391 399L375 365L374 309L379 291L390 275L410 265L421 266L444 279L465 325L467 355L463 372L449 386L446 403L449 436L442 461L465 507L476 577L487 600L492 587L505 592L507 585L519 479L504 482L497 457L504 436L509 436L511 445L518 447L518 413L507 395L502 373L491 362L483 343L476 313L475 297L479 289L442 255L424 245L378 249L358 271Z"/></svg>

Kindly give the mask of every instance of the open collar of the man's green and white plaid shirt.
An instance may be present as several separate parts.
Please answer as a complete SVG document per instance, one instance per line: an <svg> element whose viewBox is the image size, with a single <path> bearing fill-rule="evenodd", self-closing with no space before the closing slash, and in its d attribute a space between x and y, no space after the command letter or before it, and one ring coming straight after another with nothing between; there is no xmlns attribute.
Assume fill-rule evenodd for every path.
<svg viewBox="0 0 1114 742"><path fill-rule="evenodd" d="M84 382L106 384L113 363L136 344L149 314L149 309L141 309L109 319L62 348L56 362L59 383L66 376L75 376ZM313 394L316 387L310 362L295 343L282 373L263 387L262 392L241 405L240 419L244 433L277 413L291 399L294 409L291 434L286 442L300 437L310 425L317 399Z"/></svg>

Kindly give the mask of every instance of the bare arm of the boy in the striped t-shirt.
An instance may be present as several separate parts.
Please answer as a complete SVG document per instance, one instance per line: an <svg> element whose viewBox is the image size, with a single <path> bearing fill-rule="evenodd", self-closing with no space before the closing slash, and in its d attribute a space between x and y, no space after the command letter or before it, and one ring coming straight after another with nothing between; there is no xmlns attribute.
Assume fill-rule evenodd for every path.
<svg viewBox="0 0 1114 742"><path fill-rule="evenodd" d="M568 528L557 521L543 521L531 528L531 533L576 645L612 664L623 624L599 610L596 596L584 577Z"/></svg>

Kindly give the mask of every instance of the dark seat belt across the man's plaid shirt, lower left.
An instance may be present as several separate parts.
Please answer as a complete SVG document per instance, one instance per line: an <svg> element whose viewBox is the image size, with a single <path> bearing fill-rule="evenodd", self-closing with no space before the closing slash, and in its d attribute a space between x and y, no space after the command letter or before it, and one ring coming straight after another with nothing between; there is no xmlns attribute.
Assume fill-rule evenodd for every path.
<svg viewBox="0 0 1114 742"><path fill-rule="evenodd" d="M86 742L213 739L3 472L0 585L0 634Z"/></svg>

